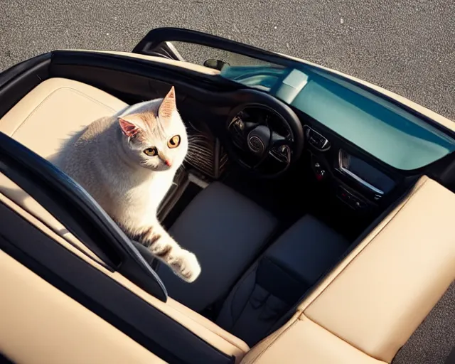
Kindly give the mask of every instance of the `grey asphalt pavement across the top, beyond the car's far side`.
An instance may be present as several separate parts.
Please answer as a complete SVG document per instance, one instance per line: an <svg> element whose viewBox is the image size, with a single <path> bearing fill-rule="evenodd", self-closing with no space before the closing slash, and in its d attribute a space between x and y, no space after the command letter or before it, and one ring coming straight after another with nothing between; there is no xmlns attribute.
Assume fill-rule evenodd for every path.
<svg viewBox="0 0 455 364"><path fill-rule="evenodd" d="M56 48L132 50L180 26L355 75L455 120L454 0L0 0L0 70Z"/></svg>

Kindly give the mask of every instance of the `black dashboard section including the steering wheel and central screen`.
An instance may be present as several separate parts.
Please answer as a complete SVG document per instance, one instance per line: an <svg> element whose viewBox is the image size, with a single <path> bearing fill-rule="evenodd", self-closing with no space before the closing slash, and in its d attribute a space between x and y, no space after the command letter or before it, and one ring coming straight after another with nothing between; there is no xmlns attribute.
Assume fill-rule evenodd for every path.
<svg viewBox="0 0 455 364"><path fill-rule="evenodd" d="M264 92L237 90L224 102L225 107L212 105L210 129L227 147L230 159L259 177L279 178L289 164L296 164L311 171L324 191L357 213L390 204L405 179L400 171ZM195 107L188 105L190 109L194 112ZM267 153L272 158L265 158ZM309 165L304 154L309 155Z"/></svg>

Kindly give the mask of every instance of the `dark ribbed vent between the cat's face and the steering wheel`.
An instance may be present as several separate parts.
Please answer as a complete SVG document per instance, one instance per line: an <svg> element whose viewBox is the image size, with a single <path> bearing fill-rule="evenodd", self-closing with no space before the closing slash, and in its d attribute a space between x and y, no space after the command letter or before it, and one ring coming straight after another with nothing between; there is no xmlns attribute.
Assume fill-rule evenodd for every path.
<svg viewBox="0 0 455 364"><path fill-rule="evenodd" d="M186 162L212 178L218 178L228 164L220 141L203 123L190 122L187 126L188 154Z"/></svg>

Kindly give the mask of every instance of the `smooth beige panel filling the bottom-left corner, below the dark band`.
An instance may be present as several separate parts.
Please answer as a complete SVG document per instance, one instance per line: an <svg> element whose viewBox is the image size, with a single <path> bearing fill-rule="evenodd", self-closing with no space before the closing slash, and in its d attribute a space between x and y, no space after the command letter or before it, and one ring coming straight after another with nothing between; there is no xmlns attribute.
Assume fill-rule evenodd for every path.
<svg viewBox="0 0 455 364"><path fill-rule="evenodd" d="M21 364L164 364L0 250L0 352Z"/></svg>

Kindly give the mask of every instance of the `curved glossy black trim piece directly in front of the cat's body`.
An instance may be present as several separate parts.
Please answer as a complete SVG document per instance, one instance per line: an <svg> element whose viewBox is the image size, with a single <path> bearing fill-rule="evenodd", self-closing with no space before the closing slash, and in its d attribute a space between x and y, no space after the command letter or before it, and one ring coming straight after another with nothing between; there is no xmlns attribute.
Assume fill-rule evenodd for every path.
<svg viewBox="0 0 455 364"><path fill-rule="evenodd" d="M166 288L156 272L118 225L75 181L3 132L0 132L0 156L0 171L35 196L46 210L60 216L65 228L88 244L98 257L166 301ZM28 163L30 160L33 163ZM71 213L68 206L73 206ZM97 225L94 226L93 221Z"/></svg>

